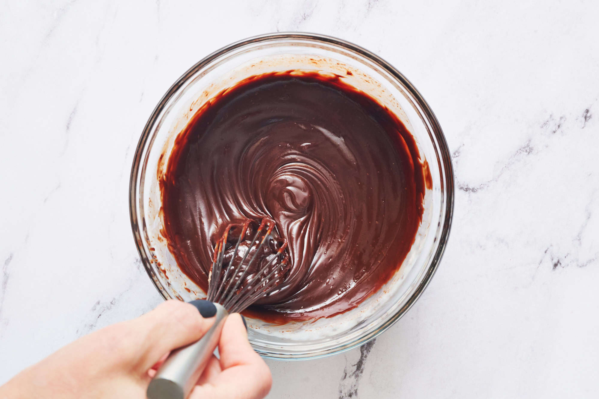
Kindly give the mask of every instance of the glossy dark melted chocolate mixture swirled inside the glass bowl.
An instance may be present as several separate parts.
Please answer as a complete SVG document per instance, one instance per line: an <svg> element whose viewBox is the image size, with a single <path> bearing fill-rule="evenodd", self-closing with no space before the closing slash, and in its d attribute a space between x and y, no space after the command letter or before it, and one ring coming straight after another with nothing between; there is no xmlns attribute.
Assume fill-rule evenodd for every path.
<svg viewBox="0 0 599 399"><path fill-rule="evenodd" d="M346 312L388 282L426 189L395 114L343 77L298 71L247 78L203 105L161 177L169 249L204 291L225 226L275 220L291 267L246 312L277 323Z"/></svg>

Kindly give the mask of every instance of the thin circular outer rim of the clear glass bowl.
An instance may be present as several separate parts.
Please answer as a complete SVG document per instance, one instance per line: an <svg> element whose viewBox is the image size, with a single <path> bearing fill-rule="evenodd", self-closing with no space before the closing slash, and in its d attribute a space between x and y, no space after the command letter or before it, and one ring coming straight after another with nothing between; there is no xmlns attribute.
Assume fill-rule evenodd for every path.
<svg viewBox="0 0 599 399"><path fill-rule="evenodd" d="M137 251L140 255L141 262L146 269L146 273L152 280L154 286L158 290L158 292L162 295L165 300L170 299L170 295L168 295L164 288L159 286L159 283L152 278L152 268L150 266L150 259L148 258L146 252L143 247L143 238L141 237L141 229L140 229L140 217L138 217L138 186L137 181L140 177L141 173L141 161L142 155L144 154L144 149L146 147L146 143L150 138L150 133L152 131L153 126L155 125L156 120L158 119L159 114L164 109L165 105L168 101L173 97L173 95L179 90L187 80L189 80L192 75L194 75L199 69L203 68L205 65L212 62L214 59L222 56L232 50L238 49L239 47L246 46L248 44L261 43L265 41L272 40L282 40L282 39L299 39L299 40L314 40L320 41L326 44L332 44L333 46L339 46L346 50L350 50L352 52L358 53L358 55L364 56L369 59L369 61L374 62L374 64L378 65L388 74L390 74L393 78L397 79L401 85L409 92L411 96L416 100L419 107L421 108L419 111L422 113L422 116L426 119L426 122L429 123L431 128L431 133L434 135L437 143L435 147L437 147L438 155L443 162L443 176L445 180L443 180L443 176L441 176L441 181L446 186L446 198L445 198L445 207L444 207L444 220L443 220L443 228L440 231L438 236L438 246L434 252L434 255L431 257L430 265L424 274L422 281L416 287L415 291L410 295L406 303L394 313L387 321L385 321L382 325L376 328L370 333L361 335L358 338L355 338L352 341L341 344L339 346L331 347L329 349L320 350L319 352L301 352L295 353L294 355L288 355L280 353L275 355L271 352L264 352L262 350L256 350L263 358L268 359L277 359L277 360L305 360L305 359L316 359L322 358L325 356L331 356L338 353L346 352L347 350L353 349L357 346L361 346L368 341L373 340L379 334L383 333L383 331L388 330L389 327L395 324L412 306L416 303L422 292L428 286L429 282L432 279L432 276L437 271L438 265L440 264L441 258L443 257L443 253L445 247L447 246L447 240L449 238L449 232L452 226L453 219L453 204L454 204L454 177L453 177L453 165L451 159L451 153L449 151L449 147L447 146L447 141L443 134L443 130L437 120L437 117L432 112L431 107L428 105L428 102L423 98L420 92L416 89L416 87L410 82L400 71L398 71L395 67L393 67L389 62L386 62L384 59L380 58L376 54L360 47L356 44L350 43L349 41L345 41L339 38L322 35L322 34L314 34L308 32L276 32L270 34L262 34L254 37L249 37L235 43L229 44L228 46L222 47L219 50L211 53L205 58L198 61L193 67L189 68L177 81L167 90L164 96L162 96L161 100L158 102L152 114L144 126L142 131L140 140L138 141L137 148L135 149L135 155L131 167L131 176L129 178L129 217L131 219L131 229L133 232L135 246L137 247ZM443 209L441 209L443 211Z"/></svg>

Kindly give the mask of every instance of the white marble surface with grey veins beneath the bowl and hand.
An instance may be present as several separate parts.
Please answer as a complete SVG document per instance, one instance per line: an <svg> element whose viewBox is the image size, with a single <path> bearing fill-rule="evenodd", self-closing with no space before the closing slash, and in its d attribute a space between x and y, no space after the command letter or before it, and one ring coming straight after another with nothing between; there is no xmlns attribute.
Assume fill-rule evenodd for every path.
<svg viewBox="0 0 599 399"><path fill-rule="evenodd" d="M129 227L132 156L196 61L271 31L390 61L453 152L455 217L374 344L269 362L269 398L598 397L599 3L8 0L0 13L0 383L161 301Z"/></svg>

